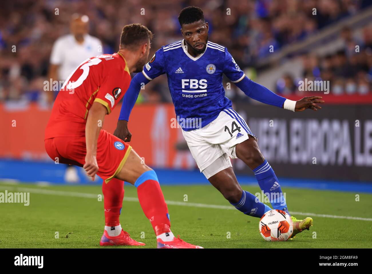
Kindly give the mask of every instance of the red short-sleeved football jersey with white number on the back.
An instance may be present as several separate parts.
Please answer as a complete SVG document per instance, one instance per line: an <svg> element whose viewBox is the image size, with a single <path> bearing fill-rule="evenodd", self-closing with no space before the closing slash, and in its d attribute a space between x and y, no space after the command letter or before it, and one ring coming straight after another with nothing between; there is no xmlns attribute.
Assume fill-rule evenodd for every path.
<svg viewBox="0 0 372 274"><path fill-rule="evenodd" d="M85 60L58 92L45 129L45 139L85 136L86 119L93 102L103 104L110 113L130 82L128 66L120 53Z"/></svg>

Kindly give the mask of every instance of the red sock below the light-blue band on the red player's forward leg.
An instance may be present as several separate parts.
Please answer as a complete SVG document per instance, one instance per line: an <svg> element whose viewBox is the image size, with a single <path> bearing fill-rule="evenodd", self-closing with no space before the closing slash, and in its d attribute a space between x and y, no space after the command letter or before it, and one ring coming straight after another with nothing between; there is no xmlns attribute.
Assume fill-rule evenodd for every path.
<svg viewBox="0 0 372 274"><path fill-rule="evenodd" d="M137 187L137 194L142 210L150 220L156 236L170 232L168 207L159 182L146 180Z"/></svg>

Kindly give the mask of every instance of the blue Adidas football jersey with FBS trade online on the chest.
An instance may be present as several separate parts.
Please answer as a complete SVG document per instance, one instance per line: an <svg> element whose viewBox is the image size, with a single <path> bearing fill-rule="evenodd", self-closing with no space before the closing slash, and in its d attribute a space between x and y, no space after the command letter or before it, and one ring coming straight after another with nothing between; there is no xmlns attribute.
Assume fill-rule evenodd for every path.
<svg viewBox="0 0 372 274"><path fill-rule="evenodd" d="M225 97L224 73L231 82L241 81L244 72L227 49L208 41L204 53L196 57L187 52L184 40L161 47L142 71L148 80L167 74L177 120L197 120L197 128L217 118L231 100ZM192 123L179 123L183 130L195 129Z"/></svg>

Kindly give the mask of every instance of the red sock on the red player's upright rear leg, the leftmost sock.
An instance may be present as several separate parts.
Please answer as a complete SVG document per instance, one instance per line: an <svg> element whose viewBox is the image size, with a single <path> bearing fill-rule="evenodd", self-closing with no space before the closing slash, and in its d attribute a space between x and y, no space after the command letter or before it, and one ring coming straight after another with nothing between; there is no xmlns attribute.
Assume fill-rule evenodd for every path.
<svg viewBox="0 0 372 274"><path fill-rule="evenodd" d="M112 178L102 184L103 203L105 206L105 225L118 226L120 211L123 206L124 181Z"/></svg>

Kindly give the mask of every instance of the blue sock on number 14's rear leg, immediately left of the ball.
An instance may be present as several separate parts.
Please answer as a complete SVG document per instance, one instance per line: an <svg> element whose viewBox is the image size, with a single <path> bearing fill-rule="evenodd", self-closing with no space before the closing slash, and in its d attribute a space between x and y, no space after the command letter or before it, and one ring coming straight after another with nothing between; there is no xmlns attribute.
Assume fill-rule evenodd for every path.
<svg viewBox="0 0 372 274"><path fill-rule="evenodd" d="M232 204L232 203L230 203ZM271 210L271 208L262 202L260 202L256 196L243 190L239 202L232 204L237 210L240 210L246 215L261 218L265 212Z"/></svg>

